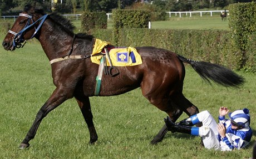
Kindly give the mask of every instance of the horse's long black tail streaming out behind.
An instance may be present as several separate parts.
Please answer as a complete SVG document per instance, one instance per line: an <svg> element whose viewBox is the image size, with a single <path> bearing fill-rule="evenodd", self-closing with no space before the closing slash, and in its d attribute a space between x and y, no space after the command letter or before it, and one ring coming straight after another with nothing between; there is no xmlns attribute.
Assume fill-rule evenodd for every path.
<svg viewBox="0 0 256 159"><path fill-rule="evenodd" d="M201 78L208 81L214 81L215 83L221 84L223 86L238 87L243 85L245 79L234 73L232 70L225 68L224 66L218 64L207 63L204 61L194 61L186 59L180 55L178 58L183 61L183 63L190 64L193 69L198 73Z"/></svg>

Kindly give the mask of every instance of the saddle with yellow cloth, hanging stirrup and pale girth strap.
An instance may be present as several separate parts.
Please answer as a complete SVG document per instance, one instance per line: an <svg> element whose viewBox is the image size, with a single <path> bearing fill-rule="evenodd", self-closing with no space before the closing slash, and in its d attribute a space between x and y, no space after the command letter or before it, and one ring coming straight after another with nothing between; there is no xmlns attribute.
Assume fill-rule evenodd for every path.
<svg viewBox="0 0 256 159"><path fill-rule="evenodd" d="M119 70L115 66L134 66L142 64L140 54L132 47L115 47L109 42L94 39L91 61L99 64L96 77L95 95L100 93L103 71L105 75L116 76Z"/></svg>

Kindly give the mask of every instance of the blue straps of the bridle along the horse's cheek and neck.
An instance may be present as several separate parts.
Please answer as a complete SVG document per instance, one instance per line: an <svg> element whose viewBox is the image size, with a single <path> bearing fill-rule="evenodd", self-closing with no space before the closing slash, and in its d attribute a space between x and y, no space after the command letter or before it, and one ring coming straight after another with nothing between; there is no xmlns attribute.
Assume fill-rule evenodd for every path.
<svg viewBox="0 0 256 159"><path fill-rule="evenodd" d="M22 38L23 32L25 32L26 30L30 29L31 27L35 27L35 24L36 24L37 22L40 22L40 20L41 20L41 22L40 22L40 24L38 25L38 27L35 28L35 33L32 35L32 37L31 37L30 39L32 39L33 37L35 37L36 33L38 32L38 30L40 30L40 28L42 27L42 24L45 22L45 20L46 20L47 17L48 17L48 14L45 14L45 15L42 16L41 18L37 19L36 22L33 22L32 24L25 26L24 29L22 29L20 32L18 32L18 33L14 36L14 38L13 38L13 46L16 47L16 43L23 43L23 42L24 42L23 39L19 39L19 40L23 40L23 42L17 42L17 41L16 41L17 37L18 37L18 38ZM31 17L31 18L29 17L28 22L30 21L30 19L32 19L32 17ZM18 44L18 45L19 45L19 44Z"/></svg>

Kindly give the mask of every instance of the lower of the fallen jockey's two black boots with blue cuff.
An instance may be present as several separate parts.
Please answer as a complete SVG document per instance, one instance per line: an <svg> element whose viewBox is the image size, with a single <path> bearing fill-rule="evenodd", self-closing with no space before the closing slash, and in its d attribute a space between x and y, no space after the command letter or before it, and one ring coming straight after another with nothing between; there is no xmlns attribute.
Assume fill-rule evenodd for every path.
<svg viewBox="0 0 256 159"><path fill-rule="evenodd" d="M171 121L169 116L164 120L165 120L165 124L168 128L168 131L181 132L184 134L199 136L199 127L190 127L190 126L175 124L173 121Z"/></svg>

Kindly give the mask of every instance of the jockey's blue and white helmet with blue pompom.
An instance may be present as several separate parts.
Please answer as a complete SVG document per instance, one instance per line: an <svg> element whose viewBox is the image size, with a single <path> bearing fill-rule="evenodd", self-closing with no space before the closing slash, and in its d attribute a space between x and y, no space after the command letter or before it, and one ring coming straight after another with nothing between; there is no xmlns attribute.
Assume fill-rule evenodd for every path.
<svg viewBox="0 0 256 159"><path fill-rule="evenodd" d="M230 112L229 117L233 126L244 128L250 125L250 115L247 108Z"/></svg>

